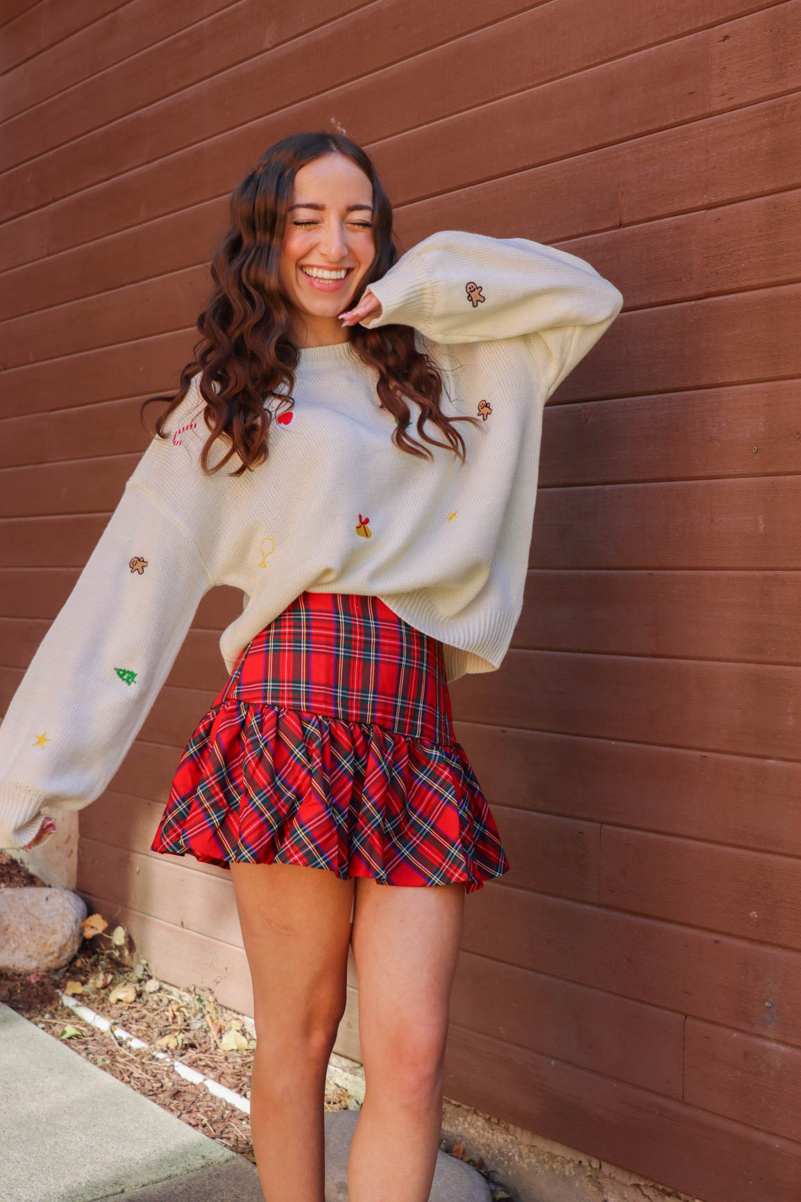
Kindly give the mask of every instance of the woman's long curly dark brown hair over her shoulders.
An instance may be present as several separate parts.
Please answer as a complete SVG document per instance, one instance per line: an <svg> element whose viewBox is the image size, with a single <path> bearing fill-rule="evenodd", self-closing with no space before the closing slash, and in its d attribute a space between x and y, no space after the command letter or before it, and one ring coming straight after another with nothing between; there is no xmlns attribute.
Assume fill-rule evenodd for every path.
<svg viewBox="0 0 801 1202"><path fill-rule="evenodd" d="M292 389L298 367L298 347L289 338L289 311L281 293L279 263L281 242L292 201L297 172L306 163L331 151L352 159L372 184L373 236L376 255L364 276L354 308L366 288L379 280L396 262L399 252L393 238L393 210L372 160L355 142L328 131L293 133L265 150L258 166L234 189L231 196L231 228L217 243L211 262L209 302L197 319L201 339L193 347L195 358L180 374L180 388L174 395L150 397L142 403L141 416L154 401L169 401L156 419L156 433L168 438L163 426L201 373L198 385L205 401L204 421L210 430L201 465L210 475L219 471L233 454L241 460L231 475L240 476L268 458L273 415L264 399L280 395L294 405ZM411 326L387 325L366 329L351 327L351 343L359 358L378 371L376 391L381 407L397 418L393 441L408 454L432 458L428 447L410 439L408 401L419 406L417 432L432 446L450 447L465 460L465 440L455 422L474 422L470 416L447 417L440 409L443 382L428 355L417 350ZM447 442L430 438L423 429L431 421ZM215 439L226 435L227 453L209 469L209 453Z"/></svg>

